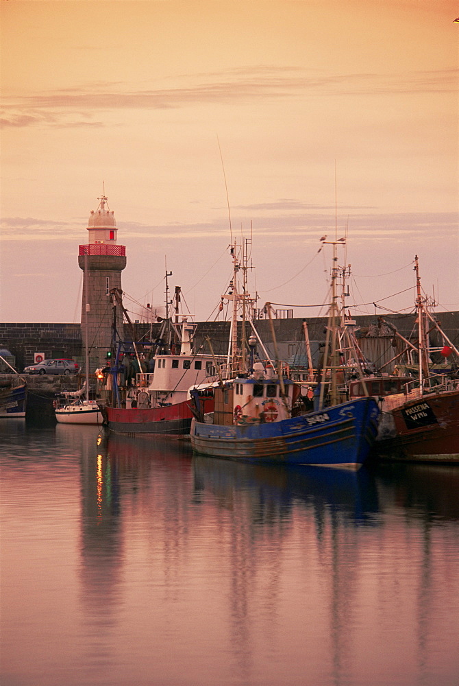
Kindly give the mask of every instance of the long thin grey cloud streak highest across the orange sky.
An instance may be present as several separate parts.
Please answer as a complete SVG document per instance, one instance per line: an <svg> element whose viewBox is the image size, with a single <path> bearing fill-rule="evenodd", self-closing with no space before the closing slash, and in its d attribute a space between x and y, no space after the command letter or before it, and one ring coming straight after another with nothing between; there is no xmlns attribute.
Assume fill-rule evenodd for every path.
<svg viewBox="0 0 459 686"><path fill-rule="evenodd" d="M212 80L211 77L219 77ZM405 75L374 73L303 74L295 69L238 69L219 74L194 75L199 83L171 88L123 88L122 83L97 82L48 93L11 98L3 126L102 126L90 113L103 110L166 110L195 104L252 104L268 99L305 95L377 95L386 93L447 93L456 91L458 71L413 72ZM205 83L203 80L210 79ZM190 80L191 78L188 78ZM4 102L8 102L4 98ZM27 115L24 115L27 110ZM70 117L69 121L66 117Z"/></svg>

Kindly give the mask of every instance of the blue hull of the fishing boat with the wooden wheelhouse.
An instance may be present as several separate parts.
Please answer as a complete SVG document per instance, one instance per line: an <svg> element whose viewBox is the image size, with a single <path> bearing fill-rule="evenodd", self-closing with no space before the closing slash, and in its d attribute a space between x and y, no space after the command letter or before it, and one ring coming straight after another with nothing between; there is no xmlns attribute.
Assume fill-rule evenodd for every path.
<svg viewBox="0 0 459 686"><path fill-rule="evenodd" d="M373 398L359 398L273 423L223 426L193 419L190 440L196 453L210 457L358 469L375 442L379 416Z"/></svg>

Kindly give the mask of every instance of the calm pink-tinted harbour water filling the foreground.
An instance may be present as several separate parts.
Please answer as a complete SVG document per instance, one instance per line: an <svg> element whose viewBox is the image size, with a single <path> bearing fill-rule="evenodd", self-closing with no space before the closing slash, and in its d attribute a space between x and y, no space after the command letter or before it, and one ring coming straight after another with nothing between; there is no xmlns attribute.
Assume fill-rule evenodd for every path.
<svg viewBox="0 0 459 686"><path fill-rule="evenodd" d="M459 467L0 424L1 686L457 686Z"/></svg>

